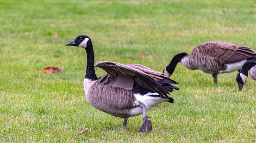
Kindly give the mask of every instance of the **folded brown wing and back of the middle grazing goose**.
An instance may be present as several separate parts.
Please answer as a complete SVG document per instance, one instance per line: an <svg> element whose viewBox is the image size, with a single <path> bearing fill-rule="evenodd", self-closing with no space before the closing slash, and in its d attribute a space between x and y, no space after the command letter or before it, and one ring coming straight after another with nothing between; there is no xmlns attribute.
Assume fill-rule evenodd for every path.
<svg viewBox="0 0 256 143"><path fill-rule="evenodd" d="M236 63L256 55L251 48L218 41L203 43L196 46L192 52L216 57L225 63Z"/></svg>

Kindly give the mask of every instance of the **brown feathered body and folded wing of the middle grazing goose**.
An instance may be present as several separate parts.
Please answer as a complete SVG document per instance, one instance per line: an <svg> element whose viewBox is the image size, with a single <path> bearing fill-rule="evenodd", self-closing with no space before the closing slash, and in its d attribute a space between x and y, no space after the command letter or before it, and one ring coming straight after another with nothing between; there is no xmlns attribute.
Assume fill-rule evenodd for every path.
<svg viewBox="0 0 256 143"><path fill-rule="evenodd" d="M226 64L246 60L256 55L251 48L226 42L210 41L196 46L188 56L192 69L200 69L209 74L219 74Z"/></svg>

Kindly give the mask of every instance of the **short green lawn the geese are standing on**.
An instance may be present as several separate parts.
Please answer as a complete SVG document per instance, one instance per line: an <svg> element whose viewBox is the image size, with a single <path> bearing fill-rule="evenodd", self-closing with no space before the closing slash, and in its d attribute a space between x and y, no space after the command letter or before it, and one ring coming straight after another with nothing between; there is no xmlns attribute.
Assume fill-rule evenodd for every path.
<svg viewBox="0 0 256 143"><path fill-rule="evenodd" d="M123 131L122 118L86 100L86 52L65 46L80 34L91 38L95 62L162 72L175 54L206 41L256 49L256 1L0 1L0 142L256 142L256 81L249 77L238 92L237 72L219 74L215 85L212 75L181 63L171 77L180 83L170 93L175 103L147 112L152 132L137 132L142 116ZM43 74L48 66L64 70Z"/></svg>

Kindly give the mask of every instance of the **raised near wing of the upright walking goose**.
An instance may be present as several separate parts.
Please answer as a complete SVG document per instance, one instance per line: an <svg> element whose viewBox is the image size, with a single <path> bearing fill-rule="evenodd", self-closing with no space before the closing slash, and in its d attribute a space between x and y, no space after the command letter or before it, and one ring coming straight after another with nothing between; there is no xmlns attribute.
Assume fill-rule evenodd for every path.
<svg viewBox="0 0 256 143"><path fill-rule="evenodd" d="M124 88L123 86L126 86L125 81L127 81L129 86L126 86L126 89L131 89L133 86L144 87L146 89L157 92L162 98L169 98L167 96L169 93L162 86L160 86L156 80L154 80L152 77L150 77L150 75L144 73L143 71L132 68L131 66L125 64L107 61L94 63L94 66L104 69L108 74L100 81L100 83ZM133 84L130 84L132 81Z"/></svg>

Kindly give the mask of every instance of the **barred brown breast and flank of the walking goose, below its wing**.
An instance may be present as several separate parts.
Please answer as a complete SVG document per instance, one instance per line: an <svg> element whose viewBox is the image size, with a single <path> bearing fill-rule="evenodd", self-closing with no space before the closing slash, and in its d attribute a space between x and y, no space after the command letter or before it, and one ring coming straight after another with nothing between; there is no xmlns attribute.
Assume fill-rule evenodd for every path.
<svg viewBox="0 0 256 143"><path fill-rule="evenodd" d="M88 91L87 100L96 109L116 117L131 117L129 110L138 105L134 104L136 98L131 91L124 88L106 86L100 81L106 75L97 80Z"/></svg>

